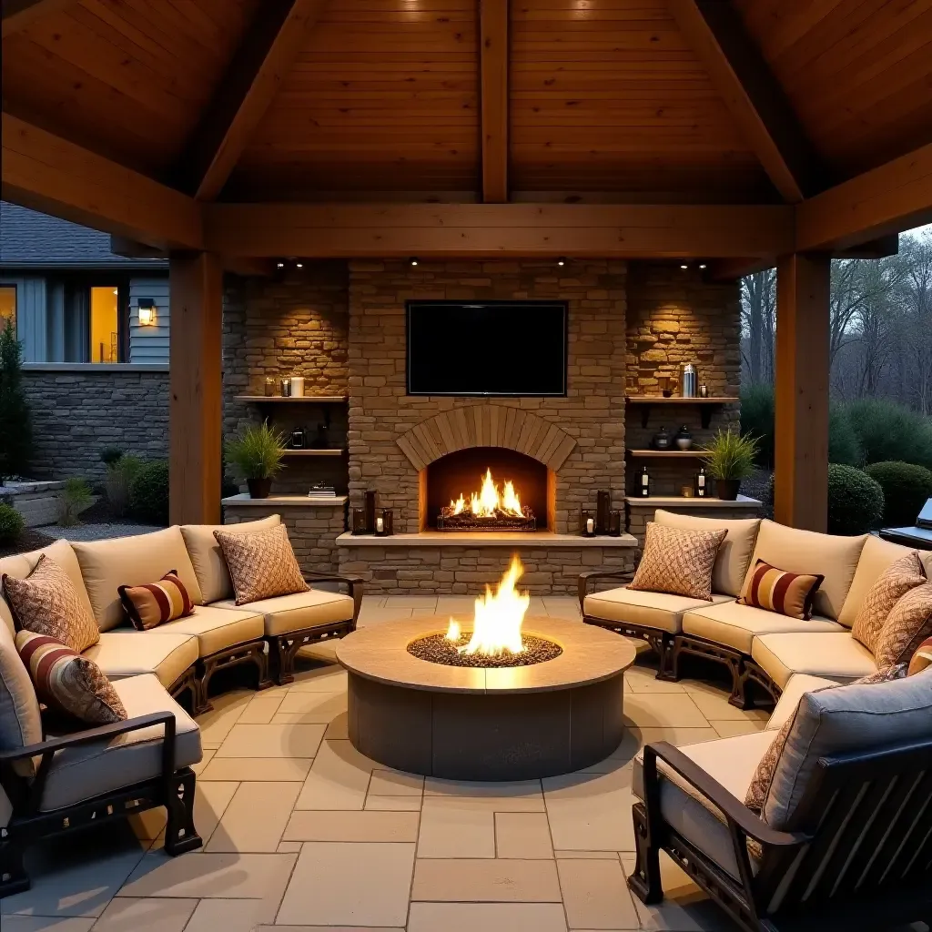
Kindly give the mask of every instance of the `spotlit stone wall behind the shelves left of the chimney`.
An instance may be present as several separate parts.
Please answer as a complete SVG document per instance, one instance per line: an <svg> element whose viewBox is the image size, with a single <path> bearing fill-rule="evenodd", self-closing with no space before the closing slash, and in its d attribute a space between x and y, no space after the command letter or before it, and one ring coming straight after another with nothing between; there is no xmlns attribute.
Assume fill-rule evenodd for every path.
<svg viewBox="0 0 932 932"><path fill-rule="evenodd" d="M348 387L349 281L345 262L308 262L276 279L227 276L224 295L224 433L273 418L286 436L301 427L314 436L330 417L330 444L346 446L347 406L304 404L260 408L237 395L262 395L267 377L305 377L305 393L345 395ZM273 494L301 494L315 481L347 491L345 459L286 459Z"/></svg>

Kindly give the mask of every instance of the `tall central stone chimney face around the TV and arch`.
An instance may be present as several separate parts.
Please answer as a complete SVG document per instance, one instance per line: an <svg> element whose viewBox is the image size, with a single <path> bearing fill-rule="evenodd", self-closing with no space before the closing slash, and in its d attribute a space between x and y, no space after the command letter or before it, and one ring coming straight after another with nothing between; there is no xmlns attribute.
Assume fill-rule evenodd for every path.
<svg viewBox="0 0 932 932"><path fill-rule="evenodd" d="M349 266L349 495L361 506L376 489L394 509L396 532L418 531L418 470L397 445L404 432L442 411L476 404L533 411L577 445L556 476L555 530L576 529L581 508L610 488L624 498L624 262L352 262ZM408 397L407 299L558 299L569 302L566 398ZM489 360L488 364L500 364Z"/></svg>

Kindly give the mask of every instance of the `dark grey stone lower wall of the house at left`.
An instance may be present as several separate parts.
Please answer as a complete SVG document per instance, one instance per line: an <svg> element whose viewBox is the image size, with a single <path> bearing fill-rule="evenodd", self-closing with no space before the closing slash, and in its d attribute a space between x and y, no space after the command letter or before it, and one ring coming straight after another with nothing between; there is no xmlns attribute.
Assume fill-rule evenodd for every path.
<svg viewBox="0 0 932 932"><path fill-rule="evenodd" d="M169 452L168 366L34 363L23 368L36 478L103 481L105 446L143 459Z"/></svg>

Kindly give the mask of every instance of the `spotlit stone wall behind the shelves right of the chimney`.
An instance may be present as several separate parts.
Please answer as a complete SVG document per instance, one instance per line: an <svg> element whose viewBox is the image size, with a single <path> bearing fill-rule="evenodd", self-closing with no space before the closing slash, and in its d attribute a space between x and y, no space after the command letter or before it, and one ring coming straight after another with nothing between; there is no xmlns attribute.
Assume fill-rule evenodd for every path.
<svg viewBox="0 0 932 932"><path fill-rule="evenodd" d="M679 367L696 363L699 382L709 395L736 397L741 390L741 298L737 282L703 281L694 268L678 264L632 262L628 271L626 391L659 394L657 377L672 377L679 393ZM684 405L651 408L647 428L641 427L640 410L629 408L627 445L641 449L664 426L671 435L686 424L693 443L707 443L715 432L737 427L737 404L715 408L707 430L699 409ZM654 495L678 495L692 485L698 460L647 460ZM636 481L645 460L629 464L628 481ZM632 530L632 533L634 531Z"/></svg>

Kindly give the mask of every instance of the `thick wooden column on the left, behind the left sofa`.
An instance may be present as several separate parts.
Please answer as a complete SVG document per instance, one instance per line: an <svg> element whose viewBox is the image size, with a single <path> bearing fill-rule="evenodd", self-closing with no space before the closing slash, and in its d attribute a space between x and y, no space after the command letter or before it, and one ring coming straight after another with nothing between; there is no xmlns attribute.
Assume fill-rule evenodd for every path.
<svg viewBox="0 0 932 932"><path fill-rule="evenodd" d="M223 267L209 253L171 254L172 524L220 524Z"/></svg>

